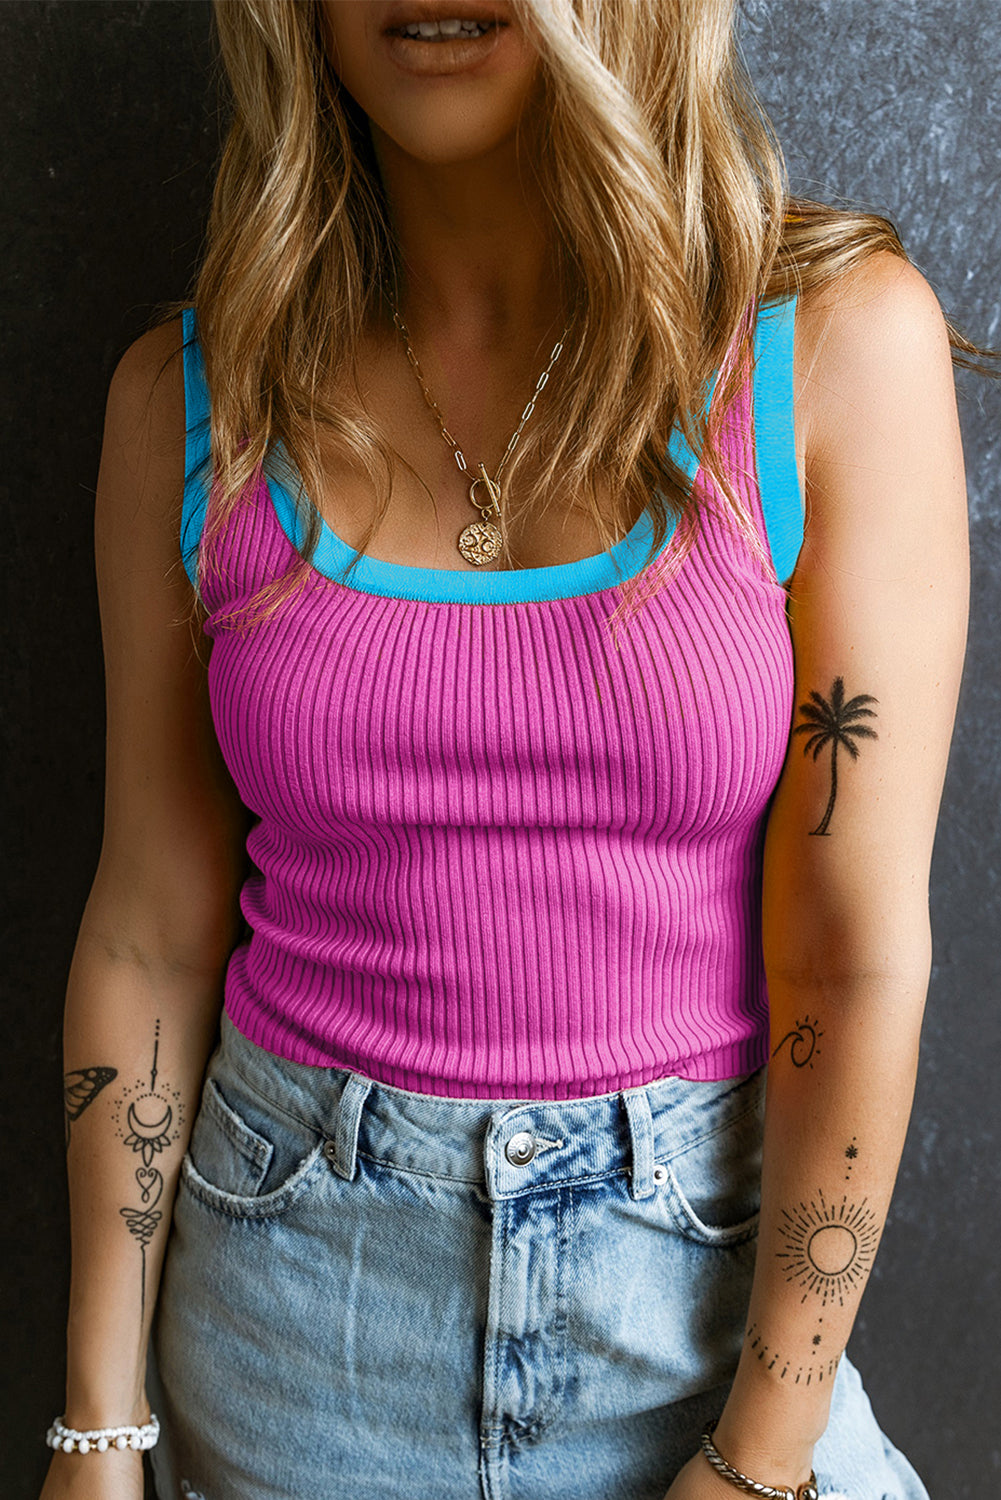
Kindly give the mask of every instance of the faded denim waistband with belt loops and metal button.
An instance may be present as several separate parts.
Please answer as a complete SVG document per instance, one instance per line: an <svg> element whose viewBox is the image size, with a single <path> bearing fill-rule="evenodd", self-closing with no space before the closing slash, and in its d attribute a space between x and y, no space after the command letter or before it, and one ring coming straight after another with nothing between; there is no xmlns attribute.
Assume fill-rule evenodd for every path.
<svg viewBox="0 0 1001 1500"><path fill-rule="evenodd" d="M413 1094L347 1068L291 1062L249 1041L222 1012L218 1064L270 1108L315 1130L341 1176L365 1156L507 1198L615 1173L648 1197L657 1168L761 1108L765 1070L713 1082L660 1078L582 1100L453 1100Z"/></svg>

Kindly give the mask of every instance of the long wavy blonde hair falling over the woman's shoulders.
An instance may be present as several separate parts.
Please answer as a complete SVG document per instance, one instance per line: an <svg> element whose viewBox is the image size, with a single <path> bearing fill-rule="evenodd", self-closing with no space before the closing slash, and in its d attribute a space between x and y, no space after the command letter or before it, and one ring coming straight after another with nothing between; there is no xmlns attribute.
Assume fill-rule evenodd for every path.
<svg viewBox="0 0 1001 1500"><path fill-rule="evenodd" d="M668 456L678 428L755 546L716 446L747 374L749 312L876 249L906 258L900 240L887 219L789 200L735 45L735 0L512 4L540 54L536 170L573 316L560 380L509 462L506 519L573 495L608 546L639 500L651 556L681 522L677 566L705 504ZM380 500L360 552L389 504L395 456L377 422L360 398L335 405L324 390L351 372L369 320L386 315L396 248L366 117L333 70L320 0L215 0L215 24L233 118L194 294L213 472L200 579L279 442L302 477L305 520L302 556L243 610L249 624L309 570L320 518L303 496L323 489L321 432ZM507 542L503 556L510 566ZM623 585L626 612L659 586L654 572Z"/></svg>

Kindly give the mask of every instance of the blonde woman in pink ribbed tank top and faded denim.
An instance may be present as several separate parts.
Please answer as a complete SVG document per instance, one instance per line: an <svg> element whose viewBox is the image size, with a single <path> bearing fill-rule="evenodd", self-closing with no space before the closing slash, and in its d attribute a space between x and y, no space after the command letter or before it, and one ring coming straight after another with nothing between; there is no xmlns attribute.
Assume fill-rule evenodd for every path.
<svg viewBox="0 0 1001 1500"><path fill-rule="evenodd" d="M45 1500L141 1492L155 1305L162 1500L924 1497L843 1348L965 640L951 330L786 202L726 0L216 20L195 308L108 399Z"/></svg>

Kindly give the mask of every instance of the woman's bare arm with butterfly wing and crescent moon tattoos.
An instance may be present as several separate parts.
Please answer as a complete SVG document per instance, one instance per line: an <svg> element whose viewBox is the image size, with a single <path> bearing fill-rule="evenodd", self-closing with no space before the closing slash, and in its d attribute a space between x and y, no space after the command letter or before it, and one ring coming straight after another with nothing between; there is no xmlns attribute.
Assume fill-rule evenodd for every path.
<svg viewBox="0 0 1001 1500"><path fill-rule="evenodd" d="M101 862L65 1017L72 1281L66 1424L141 1424L180 1161L239 932L248 814L216 744L180 564L180 321L108 393L96 507L108 705ZM161 368L168 356L164 374ZM143 1494L132 1452L56 1454L42 1500Z"/></svg>

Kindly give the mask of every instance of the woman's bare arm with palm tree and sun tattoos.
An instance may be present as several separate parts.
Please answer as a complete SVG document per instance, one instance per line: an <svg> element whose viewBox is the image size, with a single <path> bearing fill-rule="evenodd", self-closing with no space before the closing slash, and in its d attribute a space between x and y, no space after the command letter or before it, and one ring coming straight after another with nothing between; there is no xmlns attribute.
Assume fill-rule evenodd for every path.
<svg viewBox="0 0 1001 1500"><path fill-rule="evenodd" d="M716 1430L729 1462L773 1485L809 1478L903 1148L968 603L953 370L927 282L878 255L803 298L797 324L807 526L765 842L761 1230ZM686 1476L678 1496L735 1492L701 1455Z"/></svg>

